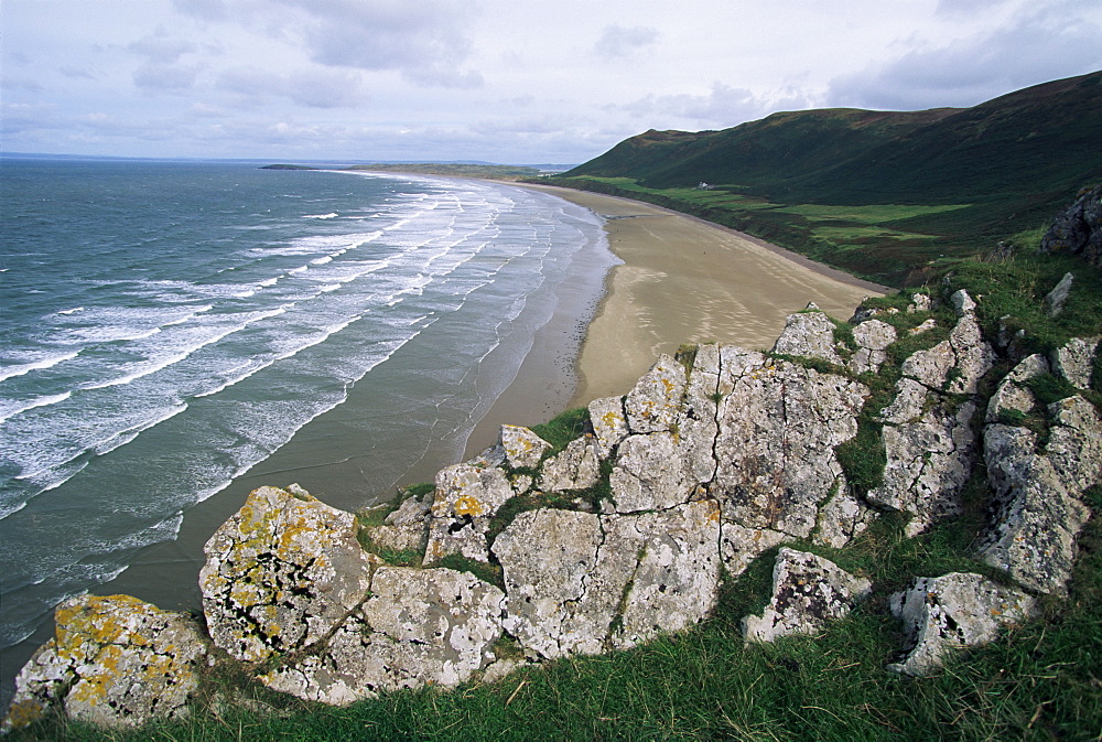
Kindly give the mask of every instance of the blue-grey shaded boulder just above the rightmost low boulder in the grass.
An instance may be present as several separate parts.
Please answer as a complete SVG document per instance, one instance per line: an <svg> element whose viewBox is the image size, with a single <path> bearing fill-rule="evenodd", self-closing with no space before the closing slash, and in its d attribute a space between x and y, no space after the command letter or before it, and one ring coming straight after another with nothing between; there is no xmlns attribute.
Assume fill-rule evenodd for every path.
<svg viewBox="0 0 1102 742"><path fill-rule="evenodd" d="M980 556L1025 588L1063 593L1089 510L1068 492L1048 456L1035 452L1036 441L1025 428L991 424L984 431L997 513Z"/></svg>

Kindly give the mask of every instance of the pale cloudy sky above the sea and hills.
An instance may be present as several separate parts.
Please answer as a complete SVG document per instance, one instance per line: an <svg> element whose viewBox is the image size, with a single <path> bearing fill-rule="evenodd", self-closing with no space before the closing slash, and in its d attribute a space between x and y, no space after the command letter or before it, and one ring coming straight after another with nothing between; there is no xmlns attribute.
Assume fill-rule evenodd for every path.
<svg viewBox="0 0 1102 742"><path fill-rule="evenodd" d="M1102 69L1102 0L3 0L0 150L580 163Z"/></svg>

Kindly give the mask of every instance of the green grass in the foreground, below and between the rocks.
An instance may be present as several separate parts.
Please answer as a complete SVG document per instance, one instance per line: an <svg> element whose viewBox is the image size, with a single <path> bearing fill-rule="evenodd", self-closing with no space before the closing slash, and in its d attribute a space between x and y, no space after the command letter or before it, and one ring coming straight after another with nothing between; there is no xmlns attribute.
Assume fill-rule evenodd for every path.
<svg viewBox="0 0 1102 742"><path fill-rule="evenodd" d="M1076 284L1067 309L1054 320L1041 309L1041 299L1068 270L1074 272ZM938 294L957 288L979 299L988 336L995 336L1001 325L1025 329L1020 341L1025 350L1050 350L1070 336L1095 334L1102 327L1102 272L1074 259L1024 251L1007 260L966 260L944 283L927 290ZM908 298L897 294L875 303L903 309ZM880 319L907 327L928 316L900 311ZM938 319L942 326L951 322L948 316ZM873 407L880 404L875 400L883 399L903 357L930 344L930 336L917 335L909 341L912 346L895 350ZM691 352L684 348L681 355ZM1007 370L1007 365L995 369L982 391L991 394ZM1047 398L1066 390L1057 380L1042 378L1036 391ZM1088 396L1102 405L1102 373L1095 374ZM584 424L584 411L574 410L539 431L562 444ZM858 442L852 454L856 460L874 459L875 445ZM431 485L420 485L410 494L430 490ZM521 498L516 499L523 509ZM916 574L992 573L970 556L985 524L986 499L981 473L969 485L964 515L917 538L905 538L901 518L887 515L843 550L795 545L874 582L873 598L820 636L743 645L739 622L760 611L768 599L774 550L724 584L719 606L706 622L629 652L533 666L490 686L396 692L344 709L272 693L244 674L209 670L204 698L208 710L201 708L188 720L136 732L51 720L9 739L1096 740L1102 734L1102 519L1098 517L1079 537L1080 558L1069 595L1044 600L1040 620L970 652L930 678L908 679L884 669L903 645L899 623L886 610L890 592ZM1102 488L1088 494L1088 504L1099 513ZM499 648L508 654L508 642Z"/></svg>

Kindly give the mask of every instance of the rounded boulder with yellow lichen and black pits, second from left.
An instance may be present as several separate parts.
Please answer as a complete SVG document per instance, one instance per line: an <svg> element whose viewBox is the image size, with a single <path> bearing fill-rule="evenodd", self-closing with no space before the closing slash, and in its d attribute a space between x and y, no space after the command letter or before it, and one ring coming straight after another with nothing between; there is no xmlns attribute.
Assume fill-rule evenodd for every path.
<svg viewBox="0 0 1102 742"><path fill-rule="evenodd" d="M203 610L216 645L260 662L335 628L370 587L355 518L303 493L252 492L204 547Z"/></svg>

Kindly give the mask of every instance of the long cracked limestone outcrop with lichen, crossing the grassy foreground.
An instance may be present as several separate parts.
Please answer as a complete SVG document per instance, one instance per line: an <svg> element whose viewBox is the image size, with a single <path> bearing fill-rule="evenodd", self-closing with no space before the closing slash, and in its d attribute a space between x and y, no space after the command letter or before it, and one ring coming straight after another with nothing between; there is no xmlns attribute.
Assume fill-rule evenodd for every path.
<svg viewBox="0 0 1102 742"><path fill-rule="evenodd" d="M71 600L4 723L52 707L102 724L180 714L218 663L333 705L493 681L685 630L763 553L773 596L745 641L821 633L879 589L814 551L844 551L890 514L905 537L959 517L982 466L985 573L916 574L882 601L910 637L887 669L937 671L1066 589L1083 493L1102 482L1102 418L1080 394L1100 338L1016 358L983 336L966 293L910 301L849 324L809 307L770 353L662 356L625 397L593 401L564 447L506 426L428 494L359 519L261 487L206 546L205 633L132 598ZM875 396L905 343L918 350L895 353ZM1041 377L1066 394L1042 404ZM857 458L883 464L871 483L851 481L863 430L875 450Z"/></svg>

